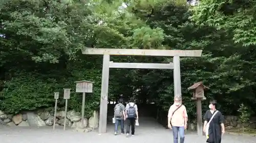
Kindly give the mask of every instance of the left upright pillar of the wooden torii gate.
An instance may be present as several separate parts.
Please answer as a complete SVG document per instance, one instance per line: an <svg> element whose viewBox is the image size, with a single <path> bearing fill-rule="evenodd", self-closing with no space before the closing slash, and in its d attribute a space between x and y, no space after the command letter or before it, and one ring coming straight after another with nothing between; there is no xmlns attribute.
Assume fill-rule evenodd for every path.
<svg viewBox="0 0 256 143"><path fill-rule="evenodd" d="M110 55L103 55L101 93L100 93L100 110L99 110L99 133L106 132L106 119L108 112L108 92L109 92L109 68Z"/></svg>

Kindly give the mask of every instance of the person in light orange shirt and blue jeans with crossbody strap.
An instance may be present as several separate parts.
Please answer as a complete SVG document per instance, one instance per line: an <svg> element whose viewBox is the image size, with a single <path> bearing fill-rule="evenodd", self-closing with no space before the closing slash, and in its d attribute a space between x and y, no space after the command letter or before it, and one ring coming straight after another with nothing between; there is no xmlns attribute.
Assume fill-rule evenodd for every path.
<svg viewBox="0 0 256 143"><path fill-rule="evenodd" d="M184 143L184 134L187 128L187 110L181 104L181 95L174 97L174 104L169 108L168 128L173 129L174 143L178 143L178 134L180 135L180 143Z"/></svg>

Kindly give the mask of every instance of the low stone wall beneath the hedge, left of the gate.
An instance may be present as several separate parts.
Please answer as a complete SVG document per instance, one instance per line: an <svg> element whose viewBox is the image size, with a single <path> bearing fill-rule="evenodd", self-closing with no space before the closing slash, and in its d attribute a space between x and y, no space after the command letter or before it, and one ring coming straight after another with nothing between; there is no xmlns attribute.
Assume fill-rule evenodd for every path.
<svg viewBox="0 0 256 143"><path fill-rule="evenodd" d="M54 111L49 109L40 109L37 111L23 111L18 115L7 115L0 110L0 124L6 126L53 126ZM59 110L56 113L56 126L64 125L65 111ZM95 117L84 119L84 126L87 128L98 128L99 113L96 111ZM81 128L81 114L74 110L67 112L66 127Z"/></svg>

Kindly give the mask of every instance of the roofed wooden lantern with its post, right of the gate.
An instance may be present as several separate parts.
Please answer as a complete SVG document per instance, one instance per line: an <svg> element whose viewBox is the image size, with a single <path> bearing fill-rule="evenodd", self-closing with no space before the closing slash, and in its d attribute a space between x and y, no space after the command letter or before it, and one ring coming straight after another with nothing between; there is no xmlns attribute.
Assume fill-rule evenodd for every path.
<svg viewBox="0 0 256 143"><path fill-rule="evenodd" d="M202 100L205 100L204 90L209 89L202 81L193 84L188 90L194 90L192 100L197 102L197 134L203 135Z"/></svg>

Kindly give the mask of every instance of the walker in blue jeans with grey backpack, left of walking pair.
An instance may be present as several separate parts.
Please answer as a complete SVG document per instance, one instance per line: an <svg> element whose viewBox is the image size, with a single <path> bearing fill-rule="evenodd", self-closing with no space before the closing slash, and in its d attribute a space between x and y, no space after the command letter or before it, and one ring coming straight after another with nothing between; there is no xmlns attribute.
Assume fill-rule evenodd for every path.
<svg viewBox="0 0 256 143"><path fill-rule="evenodd" d="M123 99L120 98L118 101L118 104L116 104L115 108L114 108L114 116L115 116L115 135L117 135L117 130L118 130L118 125L120 124L121 126L121 133L124 133L124 125L123 125L123 121L125 120L125 107L122 104Z"/></svg>

